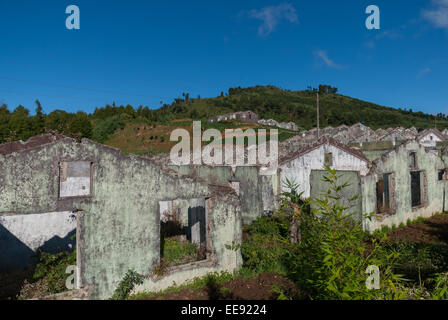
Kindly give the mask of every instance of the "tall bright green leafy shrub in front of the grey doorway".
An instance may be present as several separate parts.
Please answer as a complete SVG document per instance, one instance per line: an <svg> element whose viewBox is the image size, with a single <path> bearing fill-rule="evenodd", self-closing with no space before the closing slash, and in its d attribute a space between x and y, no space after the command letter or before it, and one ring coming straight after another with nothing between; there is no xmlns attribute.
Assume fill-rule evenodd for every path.
<svg viewBox="0 0 448 320"><path fill-rule="evenodd" d="M301 242L289 251L289 276L313 299L403 298L406 293L399 289L402 279L392 269L398 253L381 254L383 249L376 239L363 242L365 233L347 213L349 205L340 195L347 183L339 184L336 171L329 167L326 170L325 181L331 189L323 199L312 200L316 209L310 214L296 217ZM294 194L284 196L294 199ZM366 269L371 265L380 269L380 290L366 286Z"/></svg>

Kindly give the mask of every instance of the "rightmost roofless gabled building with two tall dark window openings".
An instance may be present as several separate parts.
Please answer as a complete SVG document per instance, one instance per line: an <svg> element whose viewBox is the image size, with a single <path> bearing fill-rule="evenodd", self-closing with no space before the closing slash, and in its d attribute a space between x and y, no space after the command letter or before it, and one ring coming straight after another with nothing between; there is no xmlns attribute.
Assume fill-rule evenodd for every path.
<svg viewBox="0 0 448 320"><path fill-rule="evenodd" d="M362 212L366 230L392 227L446 209L447 164L416 140L410 140L373 162L361 177Z"/></svg>

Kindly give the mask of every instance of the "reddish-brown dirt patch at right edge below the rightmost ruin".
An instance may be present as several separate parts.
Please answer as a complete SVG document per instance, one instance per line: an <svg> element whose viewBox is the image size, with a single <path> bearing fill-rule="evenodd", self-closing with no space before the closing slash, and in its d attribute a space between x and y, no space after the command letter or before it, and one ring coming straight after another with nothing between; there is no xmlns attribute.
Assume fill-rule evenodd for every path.
<svg viewBox="0 0 448 320"><path fill-rule="evenodd" d="M437 215L423 222L393 230L388 234L392 242L409 241L448 245L448 214Z"/></svg>

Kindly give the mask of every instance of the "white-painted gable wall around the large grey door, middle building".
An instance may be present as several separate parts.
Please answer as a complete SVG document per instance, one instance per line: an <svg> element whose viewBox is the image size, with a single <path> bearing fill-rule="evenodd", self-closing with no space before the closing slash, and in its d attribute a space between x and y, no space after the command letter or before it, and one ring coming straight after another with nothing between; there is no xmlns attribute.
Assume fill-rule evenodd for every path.
<svg viewBox="0 0 448 320"><path fill-rule="evenodd" d="M321 145L307 154L300 156L280 166L282 191L288 191L284 181L288 178L292 183L298 183L299 193L304 192L303 198L310 197L310 174L312 170L323 170L325 154L333 154L332 169L340 171L358 171L361 176L369 172L368 163L352 154L330 144Z"/></svg>

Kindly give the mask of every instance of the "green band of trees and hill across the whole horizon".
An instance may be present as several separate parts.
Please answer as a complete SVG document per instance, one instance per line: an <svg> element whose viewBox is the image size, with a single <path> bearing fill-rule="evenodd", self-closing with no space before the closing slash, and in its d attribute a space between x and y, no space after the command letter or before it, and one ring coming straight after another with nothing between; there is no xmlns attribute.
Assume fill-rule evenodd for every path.
<svg viewBox="0 0 448 320"><path fill-rule="evenodd" d="M215 98L192 98L190 93L174 99L171 104L162 104L157 109L148 106L134 108L131 105L106 105L97 107L91 114L54 110L45 114L39 100L36 100L35 114L22 105L10 111L0 106L0 143L26 140L29 137L49 131L87 137L104 142L115 130L123 128L129 121L145 122L151 125L164 124L174 119L206 120L209 117L251 110L259 118L279 122L295 122L304 129L317 125L316 93L320 93L320 125L353 125L362 122L377 128L412 127L418 129L437 126L448 127L446 114L437 115L415 112L412 108L395 109L354 99L338 94L338 88L319 85L319 89L308 87L303 91L284 90L274 86L230 88Z"/></svg>

